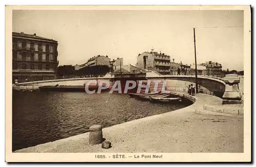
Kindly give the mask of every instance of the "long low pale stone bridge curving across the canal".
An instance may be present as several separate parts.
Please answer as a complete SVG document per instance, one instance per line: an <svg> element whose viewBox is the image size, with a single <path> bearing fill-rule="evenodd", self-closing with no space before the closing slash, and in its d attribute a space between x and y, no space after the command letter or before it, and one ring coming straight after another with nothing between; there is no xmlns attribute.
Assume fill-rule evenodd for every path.
<svg viewBox="0 0 256 167"><path fill-rule="evenodd" d="M193 75L158 75L153 71L147 71L142 74L125 74L122 76L114 74L106 74L104 77L98 77L98 80L165 80L166 88L172 91L187 91L188 85L196 83L196 77ZM81 86L85 82L95 80L96 78L72 78L72 79L57 79L57 80L44 80L35 82L19 83L17 86L26 86L38 88L40 86ZM198 76L199 92L222 97L225 92L225 82L222 78Z"/></svg>

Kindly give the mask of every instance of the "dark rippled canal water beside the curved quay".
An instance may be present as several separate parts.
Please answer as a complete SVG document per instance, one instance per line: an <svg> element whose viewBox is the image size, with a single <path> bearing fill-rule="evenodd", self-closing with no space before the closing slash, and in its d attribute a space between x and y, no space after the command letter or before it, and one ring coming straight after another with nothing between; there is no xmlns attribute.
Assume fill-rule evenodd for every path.
<svg viewBox="0 0 256 167"><path fill-rule="evenodd" d="M13 92L12 150L88 132L89 127L116 124L186 107L151 103L127 94L83 92Z"/></svg>

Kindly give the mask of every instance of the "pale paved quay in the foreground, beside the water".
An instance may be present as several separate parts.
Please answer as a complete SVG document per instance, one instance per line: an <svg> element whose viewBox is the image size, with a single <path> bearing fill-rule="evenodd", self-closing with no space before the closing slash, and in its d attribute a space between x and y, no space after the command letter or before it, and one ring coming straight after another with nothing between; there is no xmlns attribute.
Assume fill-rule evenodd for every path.
<svg viewBox="0 0 256 167"><path fill-rule="evenodd" d="M221 104L222 99L195 98L188 107L102 129L110 149L89 146L89 133L83 133L15 152L243 152L243 118L196 114L203 104Z"/></svg>

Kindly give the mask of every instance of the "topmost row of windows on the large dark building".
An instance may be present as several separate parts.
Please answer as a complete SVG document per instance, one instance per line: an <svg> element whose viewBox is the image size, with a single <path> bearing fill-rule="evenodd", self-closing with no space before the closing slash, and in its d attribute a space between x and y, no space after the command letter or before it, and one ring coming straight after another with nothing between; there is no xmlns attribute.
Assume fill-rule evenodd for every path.
<svg viewBox="0 0 256 167"><path fill-rule="evenodd" d="M54 52L54 50L56 49L51 44L41 44L41 43L34 43L34 42L20 42L20 41L17 41L17 42L14 41L12 43L12 48L36 50L36 51L47 51L47 52Z"/></svg>

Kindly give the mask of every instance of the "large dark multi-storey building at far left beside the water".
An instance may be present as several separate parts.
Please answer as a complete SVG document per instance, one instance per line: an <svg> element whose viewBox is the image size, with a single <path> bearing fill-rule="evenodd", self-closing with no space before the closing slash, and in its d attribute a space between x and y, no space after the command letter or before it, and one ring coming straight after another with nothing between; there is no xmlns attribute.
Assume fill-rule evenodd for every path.
<svg viewBox="0 0 256 167"><path fill-rule="evenodd" d="M36 34L12 33L12 80L54 79L58 67L58 42Z"/></svg>

